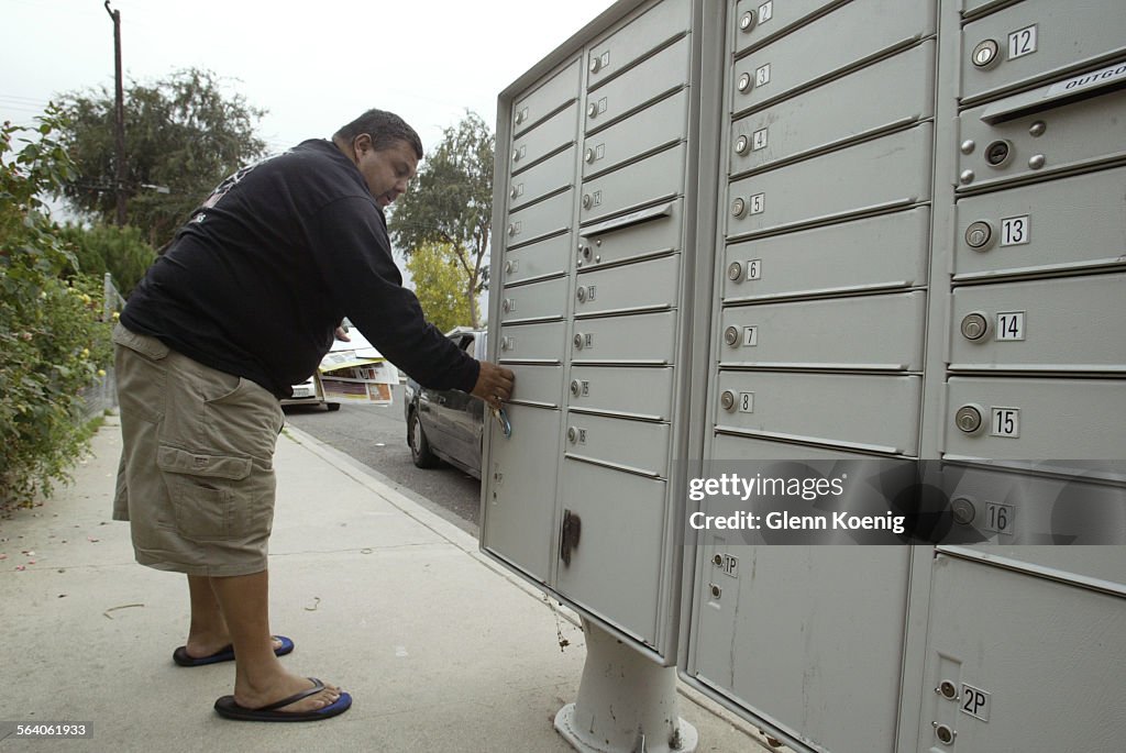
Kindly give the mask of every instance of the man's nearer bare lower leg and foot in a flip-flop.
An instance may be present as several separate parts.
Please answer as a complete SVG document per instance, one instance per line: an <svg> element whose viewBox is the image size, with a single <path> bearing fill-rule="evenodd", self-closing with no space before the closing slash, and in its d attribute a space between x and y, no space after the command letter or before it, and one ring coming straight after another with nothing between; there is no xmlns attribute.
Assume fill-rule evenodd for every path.
<svg viewBox="0 0 1126 753"><path fill-rule="evenodd" d="M269 576L253 575L209 579L234 644L234 700L245 708L261 708L307 690L307 678L291 674L274 655L269 627ZM325 689L295 703L286 711L310 711L332 705L340 689Z"/></svg>

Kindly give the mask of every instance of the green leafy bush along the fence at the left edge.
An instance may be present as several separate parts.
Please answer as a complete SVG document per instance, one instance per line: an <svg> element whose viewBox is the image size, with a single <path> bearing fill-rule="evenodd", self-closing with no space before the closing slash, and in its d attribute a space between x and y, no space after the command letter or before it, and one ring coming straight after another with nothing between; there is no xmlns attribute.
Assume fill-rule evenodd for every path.
<svg viewBox="0 0 1126 753"><path fill-rule="evenodd" d="M0 511L29 505L68 477L89 440L80 392L111 353L101 281L63 277L78 262L41 197L59 189L71 163L51 135L56 110L39 123L0 128Z"/></svg>

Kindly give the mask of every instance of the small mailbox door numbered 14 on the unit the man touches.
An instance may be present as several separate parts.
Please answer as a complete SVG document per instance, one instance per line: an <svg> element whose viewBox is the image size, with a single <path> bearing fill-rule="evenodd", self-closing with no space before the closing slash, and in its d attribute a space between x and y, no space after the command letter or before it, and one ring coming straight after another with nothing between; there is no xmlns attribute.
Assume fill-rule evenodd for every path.
<svg viewBox="0 0 1126 753"><path fill-rule="evenodd" d="M671 365L677 352L677 312L600 316L577 322L571 362Z"/></svg>

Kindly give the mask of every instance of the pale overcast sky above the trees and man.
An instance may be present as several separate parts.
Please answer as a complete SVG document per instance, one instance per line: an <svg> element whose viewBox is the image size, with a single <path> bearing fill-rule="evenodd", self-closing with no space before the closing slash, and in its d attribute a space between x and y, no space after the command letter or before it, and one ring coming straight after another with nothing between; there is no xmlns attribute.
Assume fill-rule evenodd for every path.
<svg viewBox="0 0 1126 753"><path fill-rule="evenodd" d="M329 136L378 107L429 150L471 109L495 126L497 95L611 0L111 0L126 81L190 66L268 110L270 151ZM114 86L102 0L0 0L0 120L30 125L59 92Z"/></svg>

